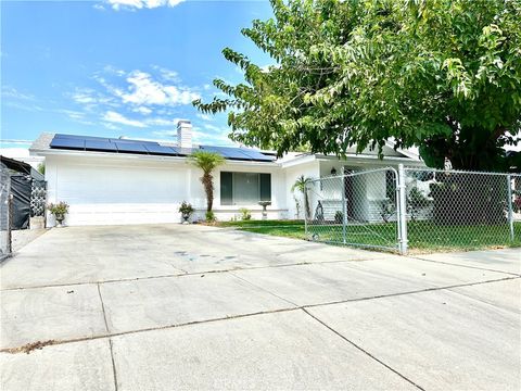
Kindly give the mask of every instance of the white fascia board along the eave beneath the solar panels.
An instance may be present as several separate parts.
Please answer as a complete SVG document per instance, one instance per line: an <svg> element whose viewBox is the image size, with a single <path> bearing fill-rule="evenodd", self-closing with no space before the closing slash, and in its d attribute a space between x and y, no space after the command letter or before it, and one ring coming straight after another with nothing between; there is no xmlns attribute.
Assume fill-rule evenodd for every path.
<svg viewBox="0 0 521 391"><path fill-rule="evenodd" d="M112 153L112 152L98 152L98 151L75 151L75 150L29 150L31 155L37 156L73 156L73 157L107 157L113 160L134 160L134 161L148 161L148 162L171 162L171 163L186 163L185 156L165 156L165 155L148 155L139 153ZM226 161L228 164L244 165L244 166L268 166L279 167L280 164L276 162L251 162L251 161Z"/></svg>

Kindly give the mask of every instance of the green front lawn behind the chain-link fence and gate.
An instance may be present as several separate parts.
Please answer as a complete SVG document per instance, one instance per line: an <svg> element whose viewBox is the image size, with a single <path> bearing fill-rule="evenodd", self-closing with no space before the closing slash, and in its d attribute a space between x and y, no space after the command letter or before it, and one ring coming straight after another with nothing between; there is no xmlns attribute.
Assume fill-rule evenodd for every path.
<svg viewBox="0 0 521 391"><path fill-rule="evenodd" d="M343 242L341 225L309 227L306 237L302 220L247 220L219 223L219 226L297 239ZM408 242L411 252L478 250L521 245L521 222L514 224L514 241L509 240L507 224L480 226L440 226L429 222L408 222ZM346 227L346 243L360 247L394 248L396 224L351 225ZM314 238L312 238L312 236Z"/></svg>

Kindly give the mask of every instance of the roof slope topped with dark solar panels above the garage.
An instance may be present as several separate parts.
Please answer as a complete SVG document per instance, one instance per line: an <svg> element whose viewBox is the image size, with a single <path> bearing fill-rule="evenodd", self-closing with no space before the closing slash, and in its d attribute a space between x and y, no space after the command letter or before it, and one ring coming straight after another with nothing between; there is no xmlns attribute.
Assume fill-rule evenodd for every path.
<svg viewBox="0 0 521 391"><path fill-rule="evenodd" d="M76 136L64 134L42 134L36 140L31 150L63 150L105 152L114 154L141 154L186 157L194 151L208 151L220 154L226 160L246 162L274 162L276 156L250 148L232 148L216 146L195 146L181 148L171 143L157 141L131 140L122 138L105 138L92 136Z"/></svg>

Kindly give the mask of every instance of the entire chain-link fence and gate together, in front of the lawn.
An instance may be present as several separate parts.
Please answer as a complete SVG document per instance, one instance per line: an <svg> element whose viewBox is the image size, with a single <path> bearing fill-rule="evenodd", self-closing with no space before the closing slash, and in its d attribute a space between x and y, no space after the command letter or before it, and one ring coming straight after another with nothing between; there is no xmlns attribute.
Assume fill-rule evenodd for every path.
<svg viewBox="0 0 521 391"><path fill-rule="evenodd" d="M392 167L310 180L309 240L398 251L521 245L521 175Z"/></svg>

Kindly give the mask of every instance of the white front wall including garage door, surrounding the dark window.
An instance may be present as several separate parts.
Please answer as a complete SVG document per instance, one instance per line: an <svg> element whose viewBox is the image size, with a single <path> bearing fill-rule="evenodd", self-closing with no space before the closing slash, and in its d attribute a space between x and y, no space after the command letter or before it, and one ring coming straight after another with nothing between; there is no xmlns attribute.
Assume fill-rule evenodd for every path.
<svg viewBox="0 0 521 391"><path fill-rule="evenodd" d="M65 201L69 214L65 224L118 225L179 223L182 201L196 210L193 219L204 218L206 197L200 181L202 172L185 161L125 159L111 156L48 155L46 179L48 202ZM259 205L220 205L220 171L271 174L269 218L287 218L284 175L279 166L226 164L214 175L214 212L229 220L241 207L262 217ZM54 225L52 216L48 223Z"/></svg>

